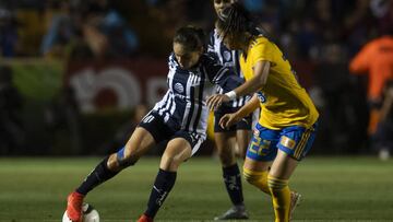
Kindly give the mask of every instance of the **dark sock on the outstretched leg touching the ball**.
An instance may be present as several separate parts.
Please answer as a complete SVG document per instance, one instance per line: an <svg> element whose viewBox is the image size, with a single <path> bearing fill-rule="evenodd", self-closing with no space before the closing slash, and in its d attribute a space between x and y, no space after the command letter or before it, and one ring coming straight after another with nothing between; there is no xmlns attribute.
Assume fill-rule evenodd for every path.
<svg viewBox="0 0 393 222"><path fill-rule="evenodd" d="M81 195L87 195L92 189L102 183L110 179L119 172L112 172L108 168L107 162L109 156L105 157L83 180L76 191Z"/></svg>

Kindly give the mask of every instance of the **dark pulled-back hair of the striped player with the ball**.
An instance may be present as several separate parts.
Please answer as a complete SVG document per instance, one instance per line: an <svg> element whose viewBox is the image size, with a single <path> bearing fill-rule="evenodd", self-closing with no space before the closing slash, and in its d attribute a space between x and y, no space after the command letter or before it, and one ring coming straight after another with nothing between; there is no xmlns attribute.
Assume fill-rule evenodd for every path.
<svg viewBox="0 0 393 222"><path fill-rule="evenodd" d="M192 25L176 31L174 43L181 44L187 50L195 51L205 48L205 34L202 28Z"/></svg>

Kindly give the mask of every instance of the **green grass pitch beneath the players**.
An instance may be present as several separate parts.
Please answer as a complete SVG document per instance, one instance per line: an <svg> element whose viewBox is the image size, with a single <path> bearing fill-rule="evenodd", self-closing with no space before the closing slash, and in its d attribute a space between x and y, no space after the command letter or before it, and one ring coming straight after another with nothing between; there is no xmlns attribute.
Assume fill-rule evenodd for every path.
<svg viewBox="0 0 393 222"><path fill-rule="evenodd" d="M0 159L0 221L61 221L66 197L99 159ZM158 159L135 166L86 198L106 221L135 221L144 211ZM308 157L290 187L303 199L295 221L393 221L393 161ZM273 221L270 198L243 183L251 220ZM217 160L184 163L157 221L211 221L230 207Z"/></svg>

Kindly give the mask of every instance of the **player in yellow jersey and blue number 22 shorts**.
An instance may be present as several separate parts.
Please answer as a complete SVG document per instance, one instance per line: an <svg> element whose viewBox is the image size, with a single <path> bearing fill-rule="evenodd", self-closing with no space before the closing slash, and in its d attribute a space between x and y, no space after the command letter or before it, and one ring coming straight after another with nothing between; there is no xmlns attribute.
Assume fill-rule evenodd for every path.
<svg viewBox="0 0 393 222"><path fill-rule="evenodd" d="M276 222L289 221L300 195L290 191L288 180L314 140L318 110L283 52L261 34L239 3L219 14L216 27L229 49L241 51L246 82L226 94L211 96L207 104L215 109L237 96L254 94L238 112L223 116L219 124L229 127L261 107L243 176L272 196Z"/></svg>

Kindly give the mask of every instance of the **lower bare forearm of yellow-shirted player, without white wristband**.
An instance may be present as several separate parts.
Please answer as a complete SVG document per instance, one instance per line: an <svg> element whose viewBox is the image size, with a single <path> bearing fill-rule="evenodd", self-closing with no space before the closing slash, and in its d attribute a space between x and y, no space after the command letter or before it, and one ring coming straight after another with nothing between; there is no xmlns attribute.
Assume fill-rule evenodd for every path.
<svg viewBox="0 0 393 222"><path fill-rule="evenodd" d="M233 114L226 114L219 119L219 126L222 128L228 128L231 125L240 121L241 118L248 116L252 112L254 112L257 108L260 107L260 101L254 94L249 102L247 102L239 110Z"/></svg>

